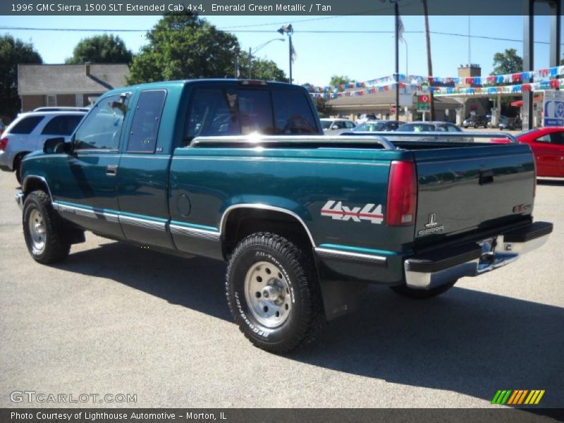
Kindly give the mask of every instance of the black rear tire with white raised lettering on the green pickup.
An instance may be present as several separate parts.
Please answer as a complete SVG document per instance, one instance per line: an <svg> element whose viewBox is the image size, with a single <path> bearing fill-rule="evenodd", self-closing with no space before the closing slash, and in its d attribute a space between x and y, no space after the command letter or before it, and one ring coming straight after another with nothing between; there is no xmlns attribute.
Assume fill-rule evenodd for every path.
<svg viewBox="0 0 564 423"><path fill-rule="evenodd" d="M262 264L261 264L262 263ZM248 278L253 279L253 269L264 267L270 270L278 269L278 274L269 281L260 283L266 290L272 283L283 283L286 286L283 293L284 307L286 302L290 306L288 314L281 317L276 314L276 319L286 319L278 326L264 324L259 321L257 311L251 307L245 291L248 291ZM276 277L278 276L278 278ZM250 289L250 288L249 288ZM263 289L263 288L259 288ZM264 293L264 291L263 291ZM259 292L257 291L257 295ZM300 248L286 238L273 233L254 233L242 240L237 247L227 268L226 295L229 309L238 324L239 329L258 348L270 353L282 354L314 341L325 324L325 315L317 272L315 271L312 254L307 248ZM260 295L257 296L259 298ZM263 295L264 304L276 309L276 305L268 303L266 294ZM278 299L280 297L277 297ZM257 302L260 300L257 300ZM265 312L268 307L264 307ZM281 308L283 310L283 308ZM264 319L264 317L262 317ZM269 319L274 320L274 317Z"/></svg>

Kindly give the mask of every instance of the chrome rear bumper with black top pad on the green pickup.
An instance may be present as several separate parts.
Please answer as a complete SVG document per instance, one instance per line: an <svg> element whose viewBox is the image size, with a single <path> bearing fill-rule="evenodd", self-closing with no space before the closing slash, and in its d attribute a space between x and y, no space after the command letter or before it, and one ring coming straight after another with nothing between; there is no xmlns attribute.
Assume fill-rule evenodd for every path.
<svg viewBox="0 0 564 423"><path fill-rule="evenodd" d="M478 243L411 257L404 262L405 283L410 288L430 289L464 276L479 276L541 247L552 230L552 223L535 222Z"/></svg>

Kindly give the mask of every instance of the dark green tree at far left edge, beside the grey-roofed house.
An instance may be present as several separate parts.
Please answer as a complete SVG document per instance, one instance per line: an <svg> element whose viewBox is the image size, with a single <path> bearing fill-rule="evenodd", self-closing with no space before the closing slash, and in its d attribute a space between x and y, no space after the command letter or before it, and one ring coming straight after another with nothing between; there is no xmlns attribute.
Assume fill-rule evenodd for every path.
<svg viewBox="0 0 564 423"><path fill-rule="evenodd" d="M0 37L0 116L13 118L21 109L18 64L43 63L32 44L11 35Z"/></svg>

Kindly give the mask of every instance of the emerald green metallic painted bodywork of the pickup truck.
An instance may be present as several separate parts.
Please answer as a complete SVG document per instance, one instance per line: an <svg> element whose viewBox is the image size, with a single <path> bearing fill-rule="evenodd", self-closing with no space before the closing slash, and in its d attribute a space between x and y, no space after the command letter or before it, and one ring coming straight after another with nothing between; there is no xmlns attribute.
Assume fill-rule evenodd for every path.
<svg viewBox="0 0 564 423"><path fill-rule="evenodd" d="M520 145L414 150L357 148L355 145L342 148L182 147L186 143L185 123L192 88L238 87L239 84L236 80L157 82L107 92L99 101L104 101L106 96L129 93L129 111L125 114L119 151L30 154L24 161L24 177L45 178L53 199L61 204L117 214L125 218L123 221L128 217L142 221L137 225L114 225L104 219L64 214L82 228L113 238L217 259L223 259L219 236L223 228L220 226L223 214L230 207L251 204L250 207L266 205L286 210L307 226L314 246L386 257L385 266L318 257L318 265L324 273L331 274L335 280L355 279L389 285L402 283L403 261L413 254L415 247L437 240L429 236L417 240L415 245L415 226L388 227L385 219L381 224L340 221L321 216L321 208L329 200L340 201L351 208L381 204L385 216L391 161L407 160L417 164L418 228L427 223L426 216L434 207L438 212L455 212L453 199L468 202L464 213L474 214L472 225L494 225L498 222L487 221L487 218L496 214L506 220L518 219L520 216L505 216L505 212L484 210L474 204L482 200L480 194L486 192L476 187L479 171L485 168L494 169L494 178L510 191L494 190L503 198L500 202L503 206L521 198L528 202L532 196L528 191L525 195L516 193L522 191L520 184L532 181L532 157L528 149L525 151L528 147ZM268 87L300 89L279 83L269 83ZM128 154L124 149L132 112L142 90L167 92L156 152ZM309 96L305 98L313 108ZM320 125L318 129L321 134ZM106 176L109 164L118 166L117 176ZM453 174L455 176L449 180ZM184 215L178 207L178 200L183 196L188 197L191 204L188 212L183 209ZM460 213L453 214L453 219L465 218L466 215ZM455 225L455 220L448 221L448 225ZM154 228L164 223L166 230L144 228L143 221L149 226L155 223ZM460 225L463 223L453 226L452 230L464 229ZM175 228L171 233L171 226L180 229ZM446 233L450 233L450 229Z"/></svg>

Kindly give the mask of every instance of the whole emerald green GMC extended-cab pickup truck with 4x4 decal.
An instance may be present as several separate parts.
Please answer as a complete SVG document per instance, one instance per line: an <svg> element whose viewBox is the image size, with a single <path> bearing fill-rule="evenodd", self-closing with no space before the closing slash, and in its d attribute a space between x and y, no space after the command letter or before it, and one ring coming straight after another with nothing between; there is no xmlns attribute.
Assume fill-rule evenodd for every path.
<svg viewBox="0 0 564 423"><path fill-rule="evenodd" d="M85 231L225 260L240 330L284 353L353 310L369 283L431 298L552 231L532 221L527 145L322 133L293 85L188 80L107 92L71 142L48 140L23 161L25 242L44 264Z"/></svg>

